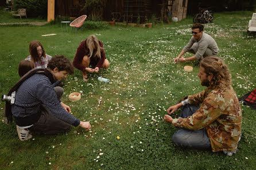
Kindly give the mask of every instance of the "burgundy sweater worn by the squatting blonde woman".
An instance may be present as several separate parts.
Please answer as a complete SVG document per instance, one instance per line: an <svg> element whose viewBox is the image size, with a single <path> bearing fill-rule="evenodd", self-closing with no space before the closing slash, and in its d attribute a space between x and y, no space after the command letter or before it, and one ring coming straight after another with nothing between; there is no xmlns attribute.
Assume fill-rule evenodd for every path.
<svg viewBox="0 0 256 170"><path fill-rule="evenodd" d="M99 41L99 45L103 48L102 42ZM90 50L86 46L86 40L84 40L79 44L76 50L76 55L73 59L73 66L76 69L79 69L82 72L84 72L86 67L82 65L82 60L84 56L89 56L89 54L90 54ZM102 50L102 52L100 52L100 55L101 55L101 58L97 56L94 57L93 55L91 56L90 64L92 65L92 68L96 68L96 67L98 67L99 69L102 68L103 62L106 59L106 54L104 49Z"/></svg>

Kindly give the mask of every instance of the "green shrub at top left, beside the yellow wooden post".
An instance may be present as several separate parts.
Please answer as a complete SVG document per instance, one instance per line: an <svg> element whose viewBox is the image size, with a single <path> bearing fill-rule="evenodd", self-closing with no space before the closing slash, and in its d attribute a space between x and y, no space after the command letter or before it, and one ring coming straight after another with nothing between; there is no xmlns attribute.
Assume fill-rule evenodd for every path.
<svg viewBox="0 0 256 170"><path fill-rule="evenodd" d="M14 0L14 9L27 9L30 17L47 17L47 0Z"/></svg>

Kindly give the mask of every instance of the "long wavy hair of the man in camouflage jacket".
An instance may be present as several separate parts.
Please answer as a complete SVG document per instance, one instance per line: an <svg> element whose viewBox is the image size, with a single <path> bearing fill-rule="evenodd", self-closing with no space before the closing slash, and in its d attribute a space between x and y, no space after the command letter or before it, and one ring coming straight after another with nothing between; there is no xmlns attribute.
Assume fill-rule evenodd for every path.
<svg viewBox="0 0 256 170"><path fill-rule="evenodd" d="M204 68L207 75L212 74L210 86L226 89L232 85L231 74L219 57L205 57L200 62L200 66Z"/></svg>

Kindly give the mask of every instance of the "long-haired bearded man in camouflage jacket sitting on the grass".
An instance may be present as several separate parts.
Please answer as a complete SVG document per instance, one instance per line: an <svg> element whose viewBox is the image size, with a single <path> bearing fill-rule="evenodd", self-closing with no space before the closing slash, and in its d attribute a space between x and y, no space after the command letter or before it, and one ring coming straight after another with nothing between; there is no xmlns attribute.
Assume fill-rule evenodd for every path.
<svg viewBox="0 0 256 170"><path fill-rule="evenodd" d="M167 109L172 114L183 106L179 118L164 116L166 122L181 128L174 133L173 142L181 147L211 148L212 152L223 151L232 156L242 135L242 109L231 85L231 74L220 58L205 57L198 76L201 85L207 88Z"/></svg>

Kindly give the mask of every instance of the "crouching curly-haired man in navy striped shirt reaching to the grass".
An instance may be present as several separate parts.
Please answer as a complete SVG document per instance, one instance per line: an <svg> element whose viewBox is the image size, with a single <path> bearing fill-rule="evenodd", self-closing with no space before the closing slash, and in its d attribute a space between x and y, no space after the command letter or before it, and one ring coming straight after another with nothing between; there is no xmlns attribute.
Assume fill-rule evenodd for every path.
<svg viewBox="0 0 256 170"><path fill-rule="evenodd" d="M73 74L73 66L64 56L53 57L45 74L34 74L25 80L16 91L15 103L11 112L17 124L17 132L21 141L32 138L32 133L55 134L67 132L73 126L81 126L87 131L90 122L78 120L72 116L71 109L60 101L64 90L53 89L52 83Z"/></svg>

